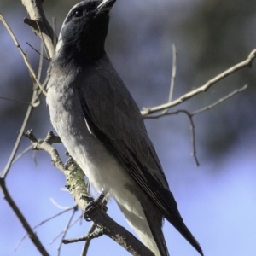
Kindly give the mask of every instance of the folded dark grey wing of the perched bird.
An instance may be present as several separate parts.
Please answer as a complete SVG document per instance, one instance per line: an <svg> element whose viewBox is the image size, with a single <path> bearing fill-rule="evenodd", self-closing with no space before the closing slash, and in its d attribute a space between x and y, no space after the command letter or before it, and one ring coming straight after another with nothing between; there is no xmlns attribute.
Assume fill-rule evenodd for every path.
<svg viewBox="0 0 256 256"><path fill-rule="evenodd" d="M107 57L108 58L108 57ZM107 67L107 68L106 68ZM93 133L159 207L165 218L198 250L183 224L137 104L110 61L79 77L84 118Z"/></svg>

